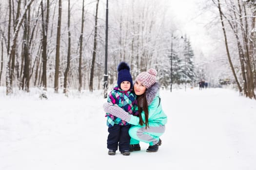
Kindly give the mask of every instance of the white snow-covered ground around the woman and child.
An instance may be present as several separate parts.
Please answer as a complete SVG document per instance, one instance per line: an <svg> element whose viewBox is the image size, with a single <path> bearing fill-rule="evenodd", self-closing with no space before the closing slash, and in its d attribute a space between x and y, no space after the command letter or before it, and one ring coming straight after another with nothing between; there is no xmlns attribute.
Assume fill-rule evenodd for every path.
<svg viewBox="0 0 256 170"><path fill-rule="evenodd" d="M168 115L157 153L107 154L101 91L0 87L0 170L256 170L256 101L229 89L161 90Z"/></svg>

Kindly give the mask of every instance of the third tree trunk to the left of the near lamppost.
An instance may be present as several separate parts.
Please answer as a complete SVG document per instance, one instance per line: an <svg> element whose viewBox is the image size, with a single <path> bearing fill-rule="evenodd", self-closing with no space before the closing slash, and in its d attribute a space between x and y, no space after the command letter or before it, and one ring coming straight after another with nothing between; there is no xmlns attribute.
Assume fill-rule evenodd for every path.
<svg viewBox="0 0 256 170"><path fill-rule="evenodd" d="M71 48L71 34L70 34L70 0L68 0L68 54L67 54L67 67L64 72L64 86L63 93L67 93L67 77L70 68L70 48Z"/></svg>

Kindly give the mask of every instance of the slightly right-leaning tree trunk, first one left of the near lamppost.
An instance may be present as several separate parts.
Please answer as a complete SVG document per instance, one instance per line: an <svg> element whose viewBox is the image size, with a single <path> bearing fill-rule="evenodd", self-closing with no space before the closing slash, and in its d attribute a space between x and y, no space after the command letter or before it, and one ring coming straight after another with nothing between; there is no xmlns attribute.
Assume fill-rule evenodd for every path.
<svg viewBox="0 0 256 170"><path fill-rule="evenodd" d="M94 78L94 65L95 65L95 58L96 58L96 51L97 51L97 20L98 20L98 1L96 5L96 16L95 16L95 30L94 30L94 47L93 47L93 59L92 59L92 66L91 66L91 75L90 75L90 84L89 90L93 91L93 78Z"/></svg>

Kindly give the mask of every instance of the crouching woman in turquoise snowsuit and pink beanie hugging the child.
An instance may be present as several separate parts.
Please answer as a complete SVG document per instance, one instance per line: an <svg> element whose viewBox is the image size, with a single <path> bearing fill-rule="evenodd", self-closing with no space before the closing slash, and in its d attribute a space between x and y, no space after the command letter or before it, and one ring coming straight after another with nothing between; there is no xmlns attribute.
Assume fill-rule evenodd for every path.
<svg viewBox="0 0 256 170"><path fill-rule="evenodd" d="M135 79L134 92L138 100L139 117L125 112L117 105L105 103L104 111L132 124L129 129L130 152L140 151L139 142L149 144L147 152L157 152L161 136L165 131L167 116L162 110L159 97L159 83L156 82L157 70L150 68L141 72Z"/></svg>

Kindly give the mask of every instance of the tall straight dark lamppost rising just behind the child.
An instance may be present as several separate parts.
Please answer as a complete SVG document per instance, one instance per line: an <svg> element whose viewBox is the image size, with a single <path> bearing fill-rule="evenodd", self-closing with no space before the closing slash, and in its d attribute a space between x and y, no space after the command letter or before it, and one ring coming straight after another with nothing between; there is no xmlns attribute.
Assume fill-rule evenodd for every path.
<svg viewBox="0 0 256 170"><path fill-rule="evenodd" d="M106 4L106 35L105 35L105 72L104 72L104 98L107 98L108 90L108 0Z"/></svg>

